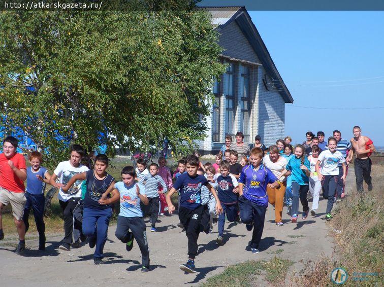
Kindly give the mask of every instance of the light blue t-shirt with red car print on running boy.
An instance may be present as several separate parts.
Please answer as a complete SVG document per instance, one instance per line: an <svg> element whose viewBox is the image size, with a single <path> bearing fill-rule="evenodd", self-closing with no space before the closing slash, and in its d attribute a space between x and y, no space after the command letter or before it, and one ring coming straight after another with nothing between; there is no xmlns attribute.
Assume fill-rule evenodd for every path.
<svg viewBox="0 0 384 287"><path fill-rule="evenodd" d="M139 193L145 195L145 188L142 184L134 183L130 186L123 182L115 184L115 188L120 193L120 213L122 217L143 217L143 211L140 208L140 197L136 194L139 187Z"/></svg>

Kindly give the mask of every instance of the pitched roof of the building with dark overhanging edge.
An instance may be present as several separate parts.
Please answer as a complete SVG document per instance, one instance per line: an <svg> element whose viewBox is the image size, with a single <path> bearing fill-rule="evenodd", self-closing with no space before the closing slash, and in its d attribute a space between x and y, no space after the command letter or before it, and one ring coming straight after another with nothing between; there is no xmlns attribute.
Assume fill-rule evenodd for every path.
<svg viewBox="0 0 384 287"><path fill-rule="evenodd" d="M252 22L244 6L210 6L201 7L212 14L212 25L218 31L229 23L235 21L240 27L245 37L252 46L254 52L258 55L268 76L272 78L274 86L286 103L293 103L293 97L285 86L267 47L265 46L258 29Z"/></svg>

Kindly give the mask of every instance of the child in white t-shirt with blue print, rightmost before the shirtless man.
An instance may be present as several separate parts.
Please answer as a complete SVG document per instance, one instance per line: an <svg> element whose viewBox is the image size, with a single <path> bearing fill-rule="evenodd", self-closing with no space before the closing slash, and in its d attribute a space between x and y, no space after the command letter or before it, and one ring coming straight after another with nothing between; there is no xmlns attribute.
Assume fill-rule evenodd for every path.
<svg viewBox="0 0 384 287"><path fill-rule="evenodd" d="M346 176L346 166L345 158L339 151L336 151L337 140L334 137L328 139L328 150L323 151L319 156L316 162L316 172L318 179L323 182L324 191L323 197L328 199L327 211L326 211L326 220L332 219L331 210L333 203L335 201L336 193L336 177L339 175L339 163L342 164L343 175L340 180L345 182ZM320 170L320 166L322 169Z"/></svg>

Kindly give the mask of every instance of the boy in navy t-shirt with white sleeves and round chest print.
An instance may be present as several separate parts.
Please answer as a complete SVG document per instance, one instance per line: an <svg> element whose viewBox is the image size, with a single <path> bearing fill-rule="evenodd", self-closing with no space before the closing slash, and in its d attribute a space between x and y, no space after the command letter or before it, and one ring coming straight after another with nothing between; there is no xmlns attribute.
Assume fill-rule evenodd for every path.
<svg viewBox="0 0 384 287"><path fill-rule="evenodd" d="M224 238L224 225L226 223L226 214L229 222L234 222L237 213L237 201L239 190L236 177L230 173L230 163L223 160L220 163L220 172L216 178L218 198L221 202L222 213L218 218L218 237L216 239L218 245L222 245Z"/></svg>

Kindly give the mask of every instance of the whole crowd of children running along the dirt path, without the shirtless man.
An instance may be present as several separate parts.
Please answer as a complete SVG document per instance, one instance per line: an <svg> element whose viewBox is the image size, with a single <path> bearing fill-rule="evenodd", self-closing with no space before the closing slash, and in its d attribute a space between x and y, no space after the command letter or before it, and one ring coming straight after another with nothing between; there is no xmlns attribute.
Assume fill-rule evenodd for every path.
<svg viewBox="0 0 384 287"><path fill-rule="evenodd" d="M242 133L236 137L239 137L237 146L244 148L240 140ZM267 149L257 136L254 147L239 158L236 146L229 149L232 137L227 136L226 145L215 156L214 164L203 165L200 155L194 152L178 161L172 176L164 157L159 158L158 164L151 163L149 169L146 162L139 159L136 169L125 166L121 170L121 181L116 182L106 171L108 157L104 154L95 156L93 170L90 170L81 163L85 152L79 145L71 146L70 159L60 162L52 175L41 166L42 154L37 151L28 154L30 166L26 167L23 155L16 152L17 139L8 136L0 154L0 240L4 238L1 209L10 204L20 240L16 253L21 254L25 249L30 209L34 211L39 233L39 250L45 249L44 190L45 185L50 184L59 189L58 199L63 211L65 236L59 248L68 251L71 245L79 247L80 241L88 237L89 246L95 247L95 264L103 263L113 203L120 201L115 235L126 245L127 251L133 248L136 240L142 254L141 271L149 271L144 216L149 214L151 232L156 232L158 214L175 212L172 196L177 191L178 226L185 229L188 238L188 260L180 265L181 270L196 273L200 232L212 233L213 225L217 224L216 242L223 245L226 220L242 222L248 231L253 229L250 250L259 253L268 203L275 207L276 225L283 226L284 203L289 206L291 221L295 223L300 198L303 205L301 218L305 220L309 212L312 216L316 214L323 187L323 196L328 200L326 219L330 220L335 198L339 200L341 197L336 192L335 177L340 174L340 165L340 179L344 183L346 164L345 156L336 150L337 139L330 137L321 153L318 145L313 142L308 145L309 139L295 148L290 141L290 137L279 139L276 145ZM313 196L311 210L308 190Z"/></svg>

